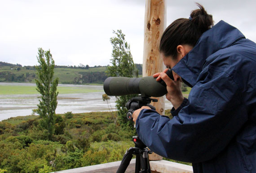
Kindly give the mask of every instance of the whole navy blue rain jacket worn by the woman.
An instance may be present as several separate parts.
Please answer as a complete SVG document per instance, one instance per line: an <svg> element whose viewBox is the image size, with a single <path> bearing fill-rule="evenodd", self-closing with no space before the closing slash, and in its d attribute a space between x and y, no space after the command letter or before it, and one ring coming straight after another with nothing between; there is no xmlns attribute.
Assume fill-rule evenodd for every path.
<svg viewBox="0 0 256 173"><path fill-rule="evenodd" d="M172 120L142 109L136 130L194 173L256 173L256 44L218 22L172 70L193 87Z"/></svg>

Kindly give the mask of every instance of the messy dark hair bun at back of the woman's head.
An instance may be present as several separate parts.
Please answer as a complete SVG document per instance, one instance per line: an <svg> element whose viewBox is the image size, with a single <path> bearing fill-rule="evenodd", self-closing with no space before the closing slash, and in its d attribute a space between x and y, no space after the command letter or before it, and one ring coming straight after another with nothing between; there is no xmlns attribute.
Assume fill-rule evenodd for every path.
<svg viewBox="0 0 256 173"><path fill-rule="evenodd" d="M203 34L208 29L212 28L213 20L212 15L207 14L202 5L196 3L200 9L193 10L190 14L191 22L198 26L198 29Z"/></svg>

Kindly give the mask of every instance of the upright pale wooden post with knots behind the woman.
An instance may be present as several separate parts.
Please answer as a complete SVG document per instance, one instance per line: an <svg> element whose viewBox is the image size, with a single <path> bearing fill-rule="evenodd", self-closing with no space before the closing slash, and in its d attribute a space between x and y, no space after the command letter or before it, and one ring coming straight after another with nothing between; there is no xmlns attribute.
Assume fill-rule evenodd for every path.
<svg viewBox="0 0 256 173"><path fill-rule="evenodd" d="M159 53L159 43L163 31L166 28L166 3L165 0L146 0L145 22L144 22L144 52L142 76L152 76L162 72L163 60ZM158 102L153 106L159 114L164 115L165 96L157 97ZM150 154L150 160L162 160L163 157Z"/></svg>

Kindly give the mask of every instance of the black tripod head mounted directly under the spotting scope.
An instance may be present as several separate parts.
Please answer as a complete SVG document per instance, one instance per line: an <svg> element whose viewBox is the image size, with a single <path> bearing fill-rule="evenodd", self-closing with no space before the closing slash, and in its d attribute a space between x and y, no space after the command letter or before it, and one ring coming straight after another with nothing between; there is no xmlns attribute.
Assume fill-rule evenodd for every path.
<svg viewBox="0 0 256 173"><path fill-rule="evenodd" d="M152 106L150 103L151 101L157 102L157 99L151 99L150 97L145 96L139 96L139 97L132 97L127 103L126 108L128 109L128 112L126 114L126 117L129 121L132 121L132 113L141 108L142 106L148 106L151 109L155 110L155 107Z"/></svg>

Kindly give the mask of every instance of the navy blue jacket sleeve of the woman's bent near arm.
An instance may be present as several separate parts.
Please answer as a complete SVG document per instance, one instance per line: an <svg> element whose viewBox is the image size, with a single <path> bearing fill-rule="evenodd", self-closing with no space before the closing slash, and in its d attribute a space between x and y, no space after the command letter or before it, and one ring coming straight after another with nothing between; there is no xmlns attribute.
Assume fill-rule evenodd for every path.
<svg viewBox="0 0 256 173"><path fill-rule="evenodd" d="M139 138L160 156L202 162L219 154L247 121L237 83L225 72L206 72L192 88L189 104L171 120L143 109L136 121Z"/></svg>

